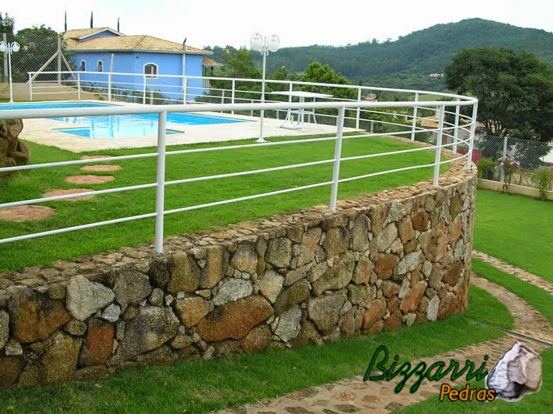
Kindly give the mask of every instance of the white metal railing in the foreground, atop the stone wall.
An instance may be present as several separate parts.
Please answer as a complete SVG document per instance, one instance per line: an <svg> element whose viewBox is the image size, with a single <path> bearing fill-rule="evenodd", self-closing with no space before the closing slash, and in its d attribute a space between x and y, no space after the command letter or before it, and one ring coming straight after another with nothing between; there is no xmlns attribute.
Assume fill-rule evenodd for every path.
<svg viewBox="0 0 553 414"><path fill-rule="evenodd" d="M125 160L125 159L133 159L133 158L148 158L148 157L156 157L157 158L157 166L156 166L156 182L155 183L145 183L141 185L136 186L126 186L126 187L119 187L119 188L110 188L106 190L98 190L98 191L88 191L86 193L75 193L75 194L69 194L64 196L51 196L51 197L45 197L45 198L38 198L38 199L30 199L30 200L21 200L21 201L14 201L11 203L1 203L0 208L10 207L10 206L21 206L21 205L27 205L31 203L44 203L47 201L56 201L56 200L63 200L66 198L73 198L73 197L82 197L82 196L93 196L98 194L105 194L105 193L116 193L116 192L122 192L122 191L136 191L138 189L143 188L156 188L156 211L151 213L145 213L137 216L127 216L123 218L116 218L113 220L108 221L99 221L96 223L86 223L80 226L71 226L67 228L56 228L54 230L50 231L42 231L39 233L31 233L31 234L25 234L22 236L14 236L9 238L1 238L0 243L10 243L14 241L21 241L26 240L30 238L36 238L41 236L48 236L56 233L66 233L68 231L76 231L84 228L93 228L98 226L106 226L114 223L122 223L125 221L133 221L138 220L141 218L156 218L155 223L155 249L156 252L161 253L163 251L163 218L167 214L171 213L179 213L183 211L192 211L196 210L198 208L207 208L210 206L219 206L227 203L235 203L238 201L245 201L245 200L252 200L254 198L261 198L261 197L267 197L267 196L273 196L276 194L282 194L282 193L289 193L292 191L302 191L307 188L315 188L320 186L331 186L330 190L330 210L335 211L336 208L336 201L338 197L338 186L340 183L344 183L347 181L352 180L358 180L362 178L369 178L374 176L380 176L382 174L387 173L395 173L399 171L408 171L415 168L428 168L428 167L434 167L434 173L433 173L433 183L434 186L438 186L438 177L440 173L440 165L443 163L448 163L451 161L455 161L460 158L467 158L467 165L466 168L471 168L471 159L472 159L472 146L475 136L475 127L476 127L476 113L477 113L477 100L472 98L467 98L465 96L455 96L455 101L452 102L445 102L445 101L427 101L427 102L418 102L418 101L402 101L402 102L359 102L359 101L330 101L330 102L317 102L317 103L290 103L290 102L284 102L284 103L267 103L267 104L189 104L189 105L132 105L132 106L103 106L103 107L96 107L96 108L49 108L49 109L26 109L26 110L1 110L0 111L0 119L11 119L11 118L51 118L51 117L57 117L57 116L98 116L98 115L123 115L123 114L138 114L138 113L157 113L158 114L158 138L157 138L157 151L152 153L144 153L144 154L136 154L136 155L130 155L130 156L113 156L109 158L109 161L118 161L118 160ZM462 106L472 106L472 116L470 117L470 123L466 123L465 125L460 125L458 122L455 125L447 124L445 123L445 111L446 107L455 106L456 108L460 108ZM372 136L388 136L388 135L406 135L406 134L413 134L416 135L417 133L420 133L420 129L412 127L409 128L407 131L400 131L395 133L365 133L361 135L355 135L355 136L343 136L344 131L344 124L345 124L345 113L347 110L355 110L355 111L364 111L364 110L370 110L379 108L380 110L385 110L386 108L401 108L401 109L409 109L415 111L416 108L439 108L439 122L437 128L432 129L431 131L434 131L437 133L437 141L435 145L427 146L427 147L416 147L416 148L410 148L402 151L390 151L386 153L368 153L361 156L350 156L350 157L343 157L341 155L342 151L342 145L343 140L345 139L362 139ZM233 145L233 146L214 146L210 148L192 148L192 149L185 149L180 151L166 151L166 119L167 119L167 113L187 113L187 112L204 112L204 111L259 111L261 109L267 111L267 110L278 110L278 111L288 111L288 110L297 110L297 109L337 109L338 110L338 118L337 118L337 129L336 129L336 135L332 137L327 138L304 138L304 139L297 139L293 141L272 141L272 142L266 142L266 143L248 143L243 145ZM455 113L457 113L456 111ZM456 117L457 118L457 117ZM457 119L458 121L458 119ZM426 130L425 130L426 131ZM468 138L465 140L462 140L461 138L457 138L452 143L442 143L443 136L451 136L456 137L457 131L467 131L469 133ZM218 174L214 176L200 176L195 178L183 178L180 180L173 180L173 181L166 181L166 174L165 174L165 162L167 156L173 156L177 154L185 154L185 153L203 153L208 151L226 151L226 150L235 150L237 148L263 148L265 146L282 146L282 145L301 145L302 143L309 143L309 142L320 142L320 141L335 141L335 152L334 157L328 160L323 161L312 161L308 163L300 163L300 164L290 164L285 166L279 166L274 168L261 168L256 170L250 170L250 171L237 171L234 173L225 173L225 174ZM460 155L453 160L445 160L441 161L440 154L442 148L455 148L458 144L465 144L468 146L469 150L464 155ZM381 156L390 156L395 154L401 154L401 153L410 153L410 152L417 152L417 151L428 151L428 150L434 150L435 151L435 161L430 164L424 164L424 165L413 165L413 166L407 166L403 168L395 168L388 171L379 171L375 173L367 173L363 174L361 176L354 176L354 177L347 177L347 178L340 178L340 165L342 162L357 160L357 159L363 159L363 158L377 158ZM13 166L13 167L6 167L6 168L0 168L0 173L7 172L7 171L24 171L24 170L30 170L35 168L53 168L57 166L72 166L72 165L79 165L79 164L86 164L86 163L94 163L98 162L97 159L91 159L91 160L78 160L78 161L64 161L64 162L56 162L56 163L44 163L44 164L31 164L28 166ZM292 168L302 168L306 166L315 166L320 165L324 163L333 163L333 176L328 181L323 181L319 183L311 183L304 186L298 186L293 188L285 188L278 191L270 191L267 193L257 193L250 196L243 196L243 197L237 197L237 198L230 198L223 201L215 201L213 203L203 203L196 206L186 206L181 208L173 208L171 210L165 210L165 187L175 184L181 184L181 183L190 183L193 181L206 181L206 180L215 180L220 178L229 178L229 177L235 177L235 176L249 176L253 174L258 173L266 173L270 171L281 171L285 169L292 169Z"/></svg>

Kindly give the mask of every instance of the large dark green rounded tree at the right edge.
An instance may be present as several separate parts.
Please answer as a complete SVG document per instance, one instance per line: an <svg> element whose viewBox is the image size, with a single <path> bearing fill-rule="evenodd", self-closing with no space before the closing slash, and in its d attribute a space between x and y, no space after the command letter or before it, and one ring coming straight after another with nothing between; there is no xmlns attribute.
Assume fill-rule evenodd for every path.
<svg viewBox="0 0 553 414"><path fill-rule="evenodd" d="M465 49L446 67L445 82L478 98L478 121L488 135L544 142L553 137L553 71L533 54Z"/></svg>

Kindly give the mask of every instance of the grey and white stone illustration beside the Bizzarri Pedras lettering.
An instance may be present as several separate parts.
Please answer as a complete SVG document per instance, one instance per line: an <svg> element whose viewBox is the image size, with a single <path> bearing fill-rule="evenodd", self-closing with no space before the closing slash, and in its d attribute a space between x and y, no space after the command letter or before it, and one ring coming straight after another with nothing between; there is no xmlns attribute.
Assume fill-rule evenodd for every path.
<svg viewBox="0 0 553 414"><path fill-rule="evenodd" d="M539 391L542 385L542 358L529 346L515 342L484 381L487 389L495 390L496 398L519 401L524 395Z"/></svg>

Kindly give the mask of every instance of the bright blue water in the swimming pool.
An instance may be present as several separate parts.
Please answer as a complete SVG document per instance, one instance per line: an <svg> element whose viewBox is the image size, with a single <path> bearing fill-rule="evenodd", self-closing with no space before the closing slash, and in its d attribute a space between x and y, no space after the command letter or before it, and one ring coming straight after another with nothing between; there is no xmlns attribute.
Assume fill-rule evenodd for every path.
<svg viewBox="0 0 553 414"><path fill-rule="evenodd" d="M31 104L0 104L3 109L44 109L44 108L97 108L113 106L93 102L37 102ZM56 121L75 123L76 126L56 128L56 131L87 138L133 138L155 136L158 133L158 114L140 113L135 115L69 116L51 118ZM183 133L171 129L183 125L209 125L213 123L246 122L223 116L198 115L196 113L168 113L166 133Z"/></svg>

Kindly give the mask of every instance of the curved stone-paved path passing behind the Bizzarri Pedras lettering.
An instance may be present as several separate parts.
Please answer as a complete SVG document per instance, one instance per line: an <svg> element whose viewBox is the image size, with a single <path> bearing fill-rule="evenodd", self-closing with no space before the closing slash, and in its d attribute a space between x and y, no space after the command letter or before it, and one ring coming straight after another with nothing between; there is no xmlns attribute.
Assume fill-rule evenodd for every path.
<svg viewBox="0 0 553 414"><path fill-rule="evenodd" d="M514 331L534 338L553 343L553 330L546 318L537 310L529 306L518 296L507 291L486 279L472 274L471 282L475 286L484 288L495 298L507 306L514 317ZM527 343L537 352L545 349L544 345L535 342L520 340L512 336L505 336L494 340L484 341L447 353L441 353L429 358L422 358L427 366L438 360L457 360L460 366L464 366L465 360L470 359L476 364L483 361L484 355L489 355L487 367L493 367L504 351L510 348L516 340ZM392 351L393 352L393 351ZM391 359L391 358L390 358ZM415 366L417 361L411 361ZM367 361L368 362L368 361ZM423 381L417 393L410 394L408 387L414 380L407 381L405 388L395 394L393 388L400 381L396 377L390 382L369 381L365 383L361 376L346 378L337 383L320 385L305 390L298 390L280 398L258 401L239 407L228 408L219 411L220 414L228 413L258 413L258 414L310 414L310 413L390 413L415 403L420 403L432 395L437 395L441 383L465 385L465 375L455 382L444 378L440 382Z"/></svg>

